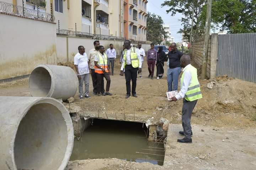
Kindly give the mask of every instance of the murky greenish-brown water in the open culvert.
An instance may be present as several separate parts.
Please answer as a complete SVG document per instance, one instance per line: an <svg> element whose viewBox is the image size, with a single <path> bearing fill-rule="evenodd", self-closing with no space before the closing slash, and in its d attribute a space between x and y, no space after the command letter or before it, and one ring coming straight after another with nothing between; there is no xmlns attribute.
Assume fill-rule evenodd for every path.
<svg viewBox="0 0 256 170"><path fill-rule="evenodd" d="M164 149L159 148L164 146L148 142L146 131L145 124L142 128L142 123L94 119L81 139L75 139L70 160L118 158L162 165Z"/></svg>

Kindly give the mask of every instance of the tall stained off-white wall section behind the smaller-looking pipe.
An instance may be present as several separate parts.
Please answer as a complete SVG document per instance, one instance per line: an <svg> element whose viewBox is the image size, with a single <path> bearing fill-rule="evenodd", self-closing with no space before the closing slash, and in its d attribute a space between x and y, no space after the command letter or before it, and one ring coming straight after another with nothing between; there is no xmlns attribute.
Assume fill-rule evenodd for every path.
<svg viewBox="0 0 256 170"><path fill-rule="evenodd" d="M0 79L56 64L55 24L0 13Z"/></svg>

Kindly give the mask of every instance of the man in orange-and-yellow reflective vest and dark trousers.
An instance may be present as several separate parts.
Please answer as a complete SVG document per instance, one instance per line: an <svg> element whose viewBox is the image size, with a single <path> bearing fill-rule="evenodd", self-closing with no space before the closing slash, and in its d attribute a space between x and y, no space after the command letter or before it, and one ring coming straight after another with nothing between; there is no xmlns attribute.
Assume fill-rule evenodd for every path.
<svg viewBox="0 0 256 170"><path fill-rule="evenodd" d="M102 94L103 96L105 95L112 95L109 92L110 89L110 75L109 75L109 68L107 65L107 55L105 54L105 48L103 46L99 46L99 53L95 55L94 58L94 64L95 64L95 73L97 74L97 94L100 96L101 92L101 86L103 82L103 77L105 77L107 81L107 86L106 86L106 93Z"/></svg>

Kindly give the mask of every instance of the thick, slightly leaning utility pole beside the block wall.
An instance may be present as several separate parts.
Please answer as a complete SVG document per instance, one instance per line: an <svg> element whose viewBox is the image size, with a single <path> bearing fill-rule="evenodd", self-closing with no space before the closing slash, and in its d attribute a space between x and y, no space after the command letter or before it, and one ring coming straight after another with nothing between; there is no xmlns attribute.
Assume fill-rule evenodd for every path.
<svg viewBox="0 0 256 170"><path fill-rule="evenodd" d="M204 51L203 51L203 64L201 79L206 79L207 59L208 59L208 41L210 36L210 23L212 14L212 0L207 0L207 13L206 13L206 33L204 38Z"/></svg>

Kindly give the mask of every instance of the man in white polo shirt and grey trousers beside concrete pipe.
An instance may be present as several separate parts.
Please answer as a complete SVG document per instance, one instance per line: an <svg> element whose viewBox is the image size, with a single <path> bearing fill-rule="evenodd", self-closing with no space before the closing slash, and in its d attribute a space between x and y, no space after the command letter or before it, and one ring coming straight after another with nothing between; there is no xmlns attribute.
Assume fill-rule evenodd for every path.
<svg viewBox="0 0 256 170"><path fill-rule="evenodd" d="M74 56L74 65L79 80L79 99L91 98L89 94L90 69L84 46L78 47L78 53ZM85 93L83 96L83 85L85 83Z"/></svg>

